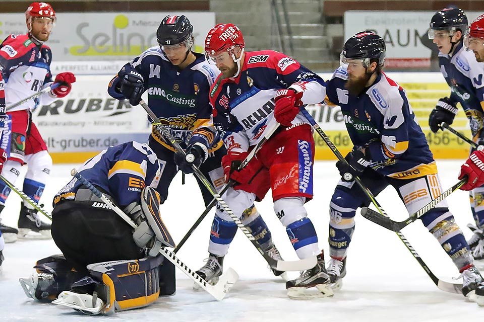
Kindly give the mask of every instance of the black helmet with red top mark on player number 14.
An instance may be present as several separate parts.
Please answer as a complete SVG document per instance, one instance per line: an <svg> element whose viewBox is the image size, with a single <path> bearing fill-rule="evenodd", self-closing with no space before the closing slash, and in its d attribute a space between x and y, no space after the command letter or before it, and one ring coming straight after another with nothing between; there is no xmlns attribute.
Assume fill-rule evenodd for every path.
<svg viewBox="0 0 484 322"><path fill-rule="evenodd" d="M185 15L166 16L156 30L156 40L161 46L171 46L188 41L187 47L193 45L193 26Z"/></svg>

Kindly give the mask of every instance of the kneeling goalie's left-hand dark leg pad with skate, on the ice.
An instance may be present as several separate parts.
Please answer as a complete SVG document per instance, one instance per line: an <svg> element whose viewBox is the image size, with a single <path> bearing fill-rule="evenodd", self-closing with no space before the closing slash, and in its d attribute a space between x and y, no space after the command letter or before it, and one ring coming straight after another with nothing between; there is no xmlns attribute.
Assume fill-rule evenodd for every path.
<svg viewBox="0 0 484 322"><path fill-rule="evenodd" d="M37 261L35 272L19 282L25 295L38 301L50 302L59 293L70 289L71 284L83 276L68 263L63 255L52 255Z"/></svg>

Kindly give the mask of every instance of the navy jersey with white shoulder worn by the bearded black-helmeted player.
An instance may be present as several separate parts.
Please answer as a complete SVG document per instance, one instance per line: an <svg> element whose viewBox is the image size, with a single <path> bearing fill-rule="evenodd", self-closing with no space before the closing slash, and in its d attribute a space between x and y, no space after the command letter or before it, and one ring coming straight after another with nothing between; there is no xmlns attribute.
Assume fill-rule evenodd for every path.
<svg viewBox="0 0 484 322"><path fill-rule="evenodd" d="M336 69L326 82L326 103L341 106L353 144L370 151L371 167L396 179L437 173L432 152L405 90L381 73L358 97L345 89L348 73Z"/></svg>

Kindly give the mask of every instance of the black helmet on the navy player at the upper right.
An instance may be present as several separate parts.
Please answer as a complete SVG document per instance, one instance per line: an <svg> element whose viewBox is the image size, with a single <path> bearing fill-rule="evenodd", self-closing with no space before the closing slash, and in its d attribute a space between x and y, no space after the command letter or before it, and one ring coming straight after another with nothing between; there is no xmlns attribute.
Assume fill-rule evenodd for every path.
<svg viewBox="0 0 484 322"><path fill-rule="evenodd" d="M462 9L449 6L436 12L429 25L429 39L434 39L434 30L447 30L452 37L457 30L464 33L467 30L468 22Z"/></svg>

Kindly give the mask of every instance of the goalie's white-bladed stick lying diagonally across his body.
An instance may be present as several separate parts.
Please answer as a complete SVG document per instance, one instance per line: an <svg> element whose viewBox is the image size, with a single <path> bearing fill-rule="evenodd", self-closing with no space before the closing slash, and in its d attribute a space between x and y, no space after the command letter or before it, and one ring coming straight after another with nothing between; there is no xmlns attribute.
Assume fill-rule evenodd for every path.
<svg viewBox="0 0 484 322"><path fill-rule="evenodd" d="M100 192L96 187L94 187L86 178L84 178L80 173L77 172L76 169L71 171L71 175L79 180L84 186L86 186L91 192L96 195L99 199L102 200L106 205L111 208L119 217L123 218L129 225L133 228L137 228L138 225L131 220L131 218L124 213L118 206L116 206L111 200L109 200L102 192ZM217 284L211 285L206 282L203 278L201 278L195 271L190 269L185 263L181 262L173 252L167 250L165 247L162 247L160 250L160 254L163 255L168 261L173 263L176 267L182 270L185 275L191 278L195 283L207 291L210 295L212 295L218 301L222 300L225 295L230 291L232 286L238 280L238 274L232 269L229 268L227 272L225 272Z"/></svg>

